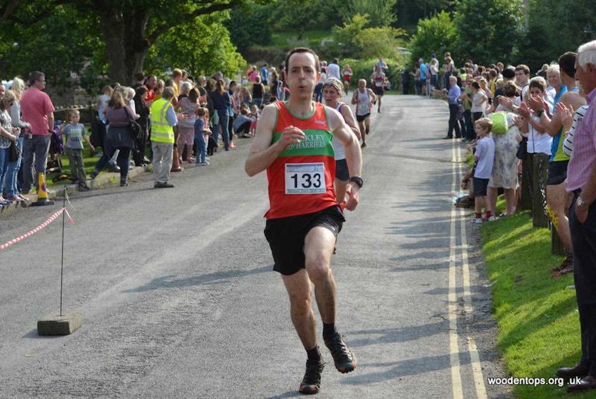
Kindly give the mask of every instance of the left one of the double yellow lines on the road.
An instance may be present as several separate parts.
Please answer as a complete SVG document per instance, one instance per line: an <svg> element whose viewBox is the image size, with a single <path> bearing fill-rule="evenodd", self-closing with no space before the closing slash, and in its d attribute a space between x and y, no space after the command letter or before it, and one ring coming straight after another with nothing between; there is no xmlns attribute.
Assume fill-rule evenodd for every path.
<svg viewBox="0 0 596 399"><path fill-rule="evenodd" d="M455 142L452 143L452 185L451 191L455 193L457 191L457 159L455 157ZM449 317L449 361L451 363L451 382L453 386L453 397L454 399L463 399L464 393L461 387L461 372L460 372L460 348L458 344L457 335L457 295L455 291L456 279L455 279L455 224L457 219L455 218L455 206L451 207L451 227L450 227L450 240L449 240L449 295L448 295L448 306L447 314Z"/></svg>

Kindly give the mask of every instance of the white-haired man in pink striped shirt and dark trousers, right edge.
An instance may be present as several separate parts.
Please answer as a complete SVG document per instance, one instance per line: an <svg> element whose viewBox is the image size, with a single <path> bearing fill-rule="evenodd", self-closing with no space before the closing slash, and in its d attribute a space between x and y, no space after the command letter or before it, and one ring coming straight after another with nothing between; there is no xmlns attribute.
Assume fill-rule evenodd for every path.
<svg viewBox="0 0 596 399"><path fill-rule="evenodd" d="M567 386L570 392L596 389L596 104L592 104L596 97L596 40L579 47L575 69L589 108L576 126L567 165L566 190L573 193L569 228L582 356L575 366L557 370L557 375L581 378Z"/></svg>

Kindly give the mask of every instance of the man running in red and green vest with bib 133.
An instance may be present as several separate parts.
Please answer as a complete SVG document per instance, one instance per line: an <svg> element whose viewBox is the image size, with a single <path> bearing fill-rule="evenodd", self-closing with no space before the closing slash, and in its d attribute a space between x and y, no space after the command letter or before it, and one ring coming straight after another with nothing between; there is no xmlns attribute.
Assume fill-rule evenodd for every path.
<svg viewBox="0 0 596 399"><path fill-rule="evenodd" d="M259 118L249 157L249 176L267 171L270 208L265 237L290 297L294 328L306 349L306 373L300 392L316 394L325 366L316 344L312 288L323 322L323 339L339 372L356 368L356 357L336 330L336 283L331 255L344 222L343 208L353 211L362 187L362 155L355 135L339 113L312 101L320 63L309 48L294 48L285 58L289 101L269 104ZM335 159L331 140L346 150L350 181L347 200L338 204L333 189Z"/></svg>

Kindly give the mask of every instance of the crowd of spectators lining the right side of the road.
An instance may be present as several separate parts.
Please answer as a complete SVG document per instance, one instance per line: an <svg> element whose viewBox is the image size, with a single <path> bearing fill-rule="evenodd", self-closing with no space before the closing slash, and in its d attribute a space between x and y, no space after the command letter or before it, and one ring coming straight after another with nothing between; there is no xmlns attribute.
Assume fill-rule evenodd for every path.
<svg viewBox="0 0 596 399"><path fill-rule="evenodd" d="M596 108L590 104L596 95L596 41L564 52L535 74L524 64L486 67L472 60L457 69L446 53L442 92L433 79L437 70L434 57L430 66L423 60L415 64L417 92L445 95L449 122L444 138L453 139L455 132L474 156L474 166L461 181L469 193L455 206L474 208L471 221L482 224L515 214L526 200L535 226L547 227L550 219L567 254L551 270L552 277L574 274L582 341L578 364L557 375L582 378L568 385L569 391L594 389ZM505 210L495 215L499 193Z"/></svg>

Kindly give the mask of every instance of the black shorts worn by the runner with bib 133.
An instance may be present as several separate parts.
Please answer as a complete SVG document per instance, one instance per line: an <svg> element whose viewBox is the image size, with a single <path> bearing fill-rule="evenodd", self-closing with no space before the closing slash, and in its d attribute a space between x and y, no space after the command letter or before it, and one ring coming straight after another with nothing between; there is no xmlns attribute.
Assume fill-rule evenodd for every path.
<svg viewBox="0 0 596 399"><path fill-rule="evenodd" d="M273 270L290 276L305 268L304 240L313 227L325 227L335 236L342 231L343 212L334 205L312 214L268 219L265 238L273 255Z"/></svg>

